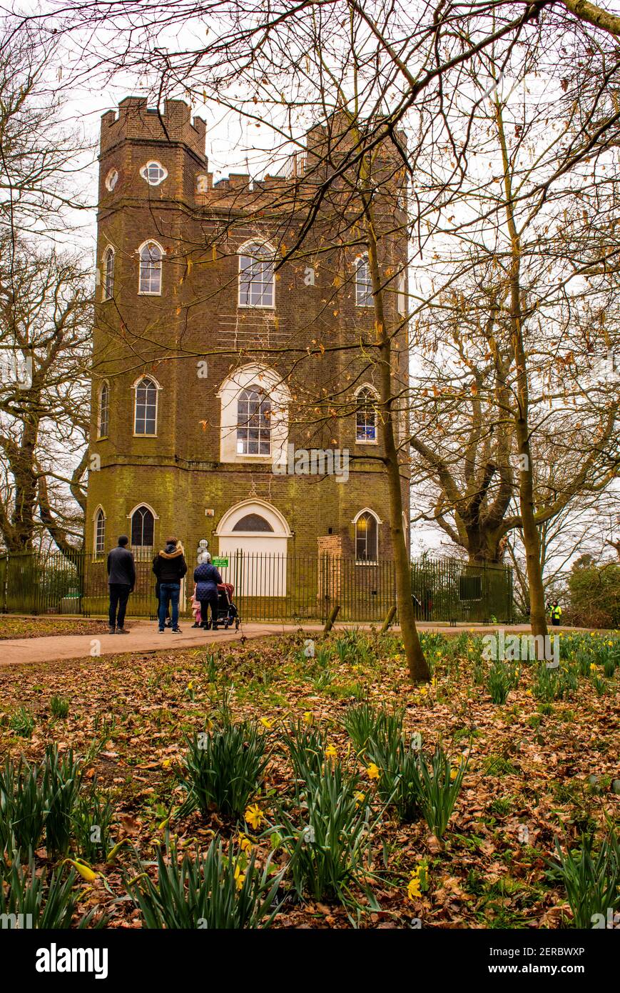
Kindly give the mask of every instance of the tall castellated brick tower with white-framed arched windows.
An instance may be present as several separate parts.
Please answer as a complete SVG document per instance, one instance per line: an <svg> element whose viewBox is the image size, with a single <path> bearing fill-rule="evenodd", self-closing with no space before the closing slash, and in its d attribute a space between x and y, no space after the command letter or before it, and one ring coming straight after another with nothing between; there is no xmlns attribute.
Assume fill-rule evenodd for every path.
<svg viewBox="0 0 620 993"><path fill-rule="evenodd" d="M340 348L372 328L372 301L363 248L332 243L335 200L274 272L300 229L324 134L309 132L288 177L214 184L205 124L185 102L159 112L128 97L103 115L86 519L101 569L123 532L151 585L169 534L190 565L201 539L215 555L342 555L367 574L390 558L375 369ZM404 218L402 200L393 209ZM386 279L388 263L403 273L388 294L401 328L397 391L408 366L404 229L386 252ZM403 492L408 506L406 473ZM282 597L290 581L285 568L243 592Z"/></svg>

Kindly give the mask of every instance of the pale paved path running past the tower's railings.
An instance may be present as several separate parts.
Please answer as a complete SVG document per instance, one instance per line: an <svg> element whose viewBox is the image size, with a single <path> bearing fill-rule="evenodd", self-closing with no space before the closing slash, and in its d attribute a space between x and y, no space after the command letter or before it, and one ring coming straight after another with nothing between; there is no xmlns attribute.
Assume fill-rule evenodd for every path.
<svg viewBox="0 0 620 993"><path fill-rule="evenodd" d="M132 621L129 635L54 635L45 638L7 638L0 640L0 666L20 663L55 662L69 658L88 658L98 655L121 655L131 652L166 651L179 648L216 646L222 641L235 641L241 638L266 638L268 636L291 634L299 631L299 625L286 624L246 624L235 632L234 629L216 632L203 632L183 626L182 633L175 635L169 629L163 635L158 634L155 622ZM304 631L310 635L322 631L321 625L304 625ZM336 629L365 628L369 625L335 625ZM462 631L475 632L476 635L488 635L495 629L490 626L466 625L458 628L445 628L432 624L420 624L421 631L441 632L443 635L458 635ZM499 626L498 626L499 627ZM398 628L393 629L398 631ZM563 628L562 631L576 629ZM504 631L527 634L528 625L506 627Z"/></svg>

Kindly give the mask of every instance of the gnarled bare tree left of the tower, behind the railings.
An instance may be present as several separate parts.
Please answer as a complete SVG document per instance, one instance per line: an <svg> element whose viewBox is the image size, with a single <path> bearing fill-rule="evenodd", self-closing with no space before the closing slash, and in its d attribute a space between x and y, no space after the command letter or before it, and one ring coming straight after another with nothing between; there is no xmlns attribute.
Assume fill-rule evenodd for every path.
<svg viewBox="0 0 620 993"><path fill-rule="evenodd" d="M0 244L0 531L33 549L41 525L62 552L81 544L88 425L89 288L74 260ZM8 272L7 272L8 269ZM72 506L67 504L71 495Z"/></svg>

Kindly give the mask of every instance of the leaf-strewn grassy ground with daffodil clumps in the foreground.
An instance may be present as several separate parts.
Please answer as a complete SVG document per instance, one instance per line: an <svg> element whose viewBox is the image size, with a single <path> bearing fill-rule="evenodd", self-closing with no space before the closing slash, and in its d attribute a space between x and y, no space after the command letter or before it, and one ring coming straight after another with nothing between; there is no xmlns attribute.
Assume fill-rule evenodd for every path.
<svg viewBox="0 0 620 993"><path fill-rule="evenodd" d="M216 652L134 654L131 665L119 655L0 670L0 752L15 761L23 755L40 768L46 747L59 746L59 808L50 839L56 854L43 847L43 825L35 828L42 906L53 874L66 878L58 853L66 850L68 832L68 858L82 869L78 860L87 861L96 874L89 881L71 870L73 926L91 911L88 926L106 912L114 926L135 926L149 915L153 926L192 926L197 907L185 907L182 891L194 878L200 886L221 880L226 901L210 907L212 887L203 887L199 918L217 913L223 915L217 920L240 920L236 886L251 858L242 912L248 926L349 927L354 920L373 927L386 915L407 927L414 918L424 927L574 926L579 908L589 911L592 900L608 897L588 896L587 881L590 889L598 885L599 853L609 821L617 821L615 647L571 636L569 648L562 645L569 675L561 695L558 677L548 688L546 675L529 664L500 704L489 693L479 640L469 633L425 637L434 682L423 687L407 680L395 635L363 632L315 636L312 657L301 634ZM412 810L412 820L403 822L381 793L365 745L382 707L402 716L408 747L422 733L435 806L434 775L445 785L453 781L451 768L437 765L434 772L435 746L443 743L453 760L468 756L449 820L440 817L441 842L422 811ZM217 735L226 716L237 731L223 740ZM355 742L346 725L358 732ZM198 747L198 734L209 738L200 740L206 749ZM73 763L81 760L78 774L69 748ZM228 773L213 779L205 755L219 767L225 759ZM342 771L337 782L340 773L329 773L336 768ZM83 800L67 826L77 775ZM237 777L233 796L227 787ZM184 809L188 793L192 800ZM28 809L28 797L24 802ZM100 831L93 833L93 825ZM322 839L322 847L312 848L324 825L331 825L328 847ZM592 838L583 858L582 836ZM177 861L165 863L171 867L166 885L181 901L174 912L172 896L162 903L158 884L158 852L167 837L177 839ZM184 861L206 858L211 845L208 865ZM30 878L27 853L13 865L19 862L19 879ZM139 873L146 875L127 899ZM566 909L567 886L574 912ZM10 899L6 886L5 894Z"/></svg>

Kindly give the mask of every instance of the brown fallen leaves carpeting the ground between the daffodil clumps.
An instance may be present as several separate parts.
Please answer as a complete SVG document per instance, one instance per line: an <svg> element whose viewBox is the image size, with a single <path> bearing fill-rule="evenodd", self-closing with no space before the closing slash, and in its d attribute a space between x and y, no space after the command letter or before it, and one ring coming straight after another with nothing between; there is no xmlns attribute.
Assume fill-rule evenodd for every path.
<svg viewBox="0 0 620 993"><path fill-rule="evenodd" d="M17 738L0 718L3 752L40 759L45 745L55 740L62 750L72 746L81 755L93 742L101 748L89 758L85 777L96 777L111 790L115 848L107 864L82 864L82 870L99 877L85 889L95 883L97 894L109 888L112 926L139 925L127 903L113 904L124 892L116 867L125 864L132 849L142 858L152 857L153 845L167 829L179 835L180 849L195 843L203 847L214 831L225 839L238 834L240 828L215 811L206 822L197 815L183 823L170 817L180 800L184 735L214 719L215 689L223 685L234 687L235 716L261 721L261 733L271 736L274 747L279 729L294 717L307 727L327 730L327 759L347 755L350 743L341 719L356 698L346 687L359 685L372 703L406 705L408 734L420 731L425 747L441 740L453 765L470 749L444 841L429 834L425 821L398 824L390 810L383 814L373 834L374 863L366 880L381 911L369 913L368 925L410 927L416 918L424 927L480 927L491 921L498 926L561 926L568 918L565 897L546 877L545 859L553 854L555 838L578 838L584 824L601 825L620 804L611 785L605 785L618 777L618 706L613 696L598 697L583 680L576 700L558 703L552 713L542 715L529 692L526 670L509 705L498 707L484 687L473 684L466 664L457 676L438 664L434 684L420 693L406 681L403 660L395 653L368 663L334 661L334 678L318 693L305 668L312 660L292 661L294 644L270 639L227 645L218 658L217 687L207 678L200 649L133 655L131 665L122 656L104 656L96 662L0 670L0 712L8 714L23 704L36 719L36 733L27 740ZM70 701L62 733L50 721L54 694ZM364 787L374 790L378 767L360 761L359 772ZM270 792L290 786L290 777L288 763L276 750L266 786L246 814L244 831L250 828L248 843L258 858L269 851L269 838L261 833L271 814ZM47 858L43 849L37 855ZM428 863L428 889L410 887L421 860ZM83 886L87 880L74 868ZM310 902L287 905L277 925L340 928L350 923L342 908Z"/></svg>

